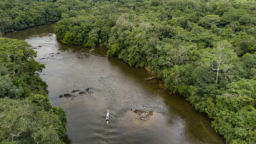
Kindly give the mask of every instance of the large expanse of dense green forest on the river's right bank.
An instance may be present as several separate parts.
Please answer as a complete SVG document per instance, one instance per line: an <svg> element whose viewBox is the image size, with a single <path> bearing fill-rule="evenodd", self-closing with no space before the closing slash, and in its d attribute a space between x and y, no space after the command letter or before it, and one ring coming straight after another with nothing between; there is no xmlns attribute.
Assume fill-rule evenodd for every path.
<svg viewBox="0 0 256 144"><path fill-rule="evenodd" d="M243 97L230 88L234 83L240 85L241 79L253 81L255 77L255 2L87 4L86 12L55 24L61 42L106 46L110 57L119 57L131 66L149 67L171 92L183 94L197 110L213 118L214 129L227 143L256 143L253 86L236 86Z"/></svg>

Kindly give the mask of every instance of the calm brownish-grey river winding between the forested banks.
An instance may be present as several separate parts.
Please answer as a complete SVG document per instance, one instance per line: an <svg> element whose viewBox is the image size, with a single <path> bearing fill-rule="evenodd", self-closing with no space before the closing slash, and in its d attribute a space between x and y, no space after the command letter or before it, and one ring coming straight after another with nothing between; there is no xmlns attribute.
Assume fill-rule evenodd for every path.
<svg viewBox="0 0 256 144"><path fill-rule="evenodd" d="M108 58L106 48L61 44L52 25L5 37L42 46L36 61L46 66L40 76L48 84L51 104L67 112L66 143L224 143L205 114L182 96L168 94L161 81L145 80L152 77L146 69ZM66 93L74 97L59 98Z"/></svg>

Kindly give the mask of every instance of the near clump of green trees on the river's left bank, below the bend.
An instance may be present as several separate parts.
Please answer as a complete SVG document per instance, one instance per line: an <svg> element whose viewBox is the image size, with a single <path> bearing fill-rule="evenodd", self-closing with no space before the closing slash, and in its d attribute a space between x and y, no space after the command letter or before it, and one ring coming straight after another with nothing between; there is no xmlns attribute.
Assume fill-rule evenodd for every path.
<svg viewBox="0 0 256 144"><path fill-rule="evenodd" d="M1 143L62 143L66 114L51 106L34 57L27 42L0 38Z"/></svg>

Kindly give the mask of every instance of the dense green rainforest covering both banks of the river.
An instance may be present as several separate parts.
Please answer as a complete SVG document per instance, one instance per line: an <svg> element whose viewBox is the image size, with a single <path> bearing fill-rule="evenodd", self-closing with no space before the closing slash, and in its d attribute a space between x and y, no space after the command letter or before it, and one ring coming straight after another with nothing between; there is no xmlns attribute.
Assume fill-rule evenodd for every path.
<svg viewBox="0 0 256 144"><path fill-rule="evenodd" d="M182 94L196 110L212 118L212 127L224 135L226 143L256 143L254 1L0 1L1 32L47 22L57 22L55 34L64 44L105 46L109 57L151 69L170 92ZM25 45L22 51L18 43ZM38 120L35 127L48 128L47 135L63 135L63 127L52 127L55 123L40 125L40 118L46 116L63 126L65 113L49 105L46 84L37 73L43 66L26 47L22 41L1 39L0 96L4 99L0 118L12 117L11 110L20 114L22 108L38 109L38 113L30 113L30 120L26 115L17 119ZM8 54L11 52L13 55ZM39 119L33 119L35 116ZM0 141L33 141L40 135L24 124L15 125L15 133L5 128ZM17 138L18 130L23 137Z"/></svg>

